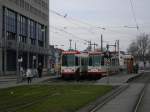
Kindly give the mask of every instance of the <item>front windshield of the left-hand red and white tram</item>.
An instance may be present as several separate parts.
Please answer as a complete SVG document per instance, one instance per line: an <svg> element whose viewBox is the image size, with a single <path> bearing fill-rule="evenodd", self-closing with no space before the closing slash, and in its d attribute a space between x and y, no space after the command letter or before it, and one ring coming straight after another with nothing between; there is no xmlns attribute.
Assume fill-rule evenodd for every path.
<svg viewBox="0 0 150 112"><path fill-rule="evenodd" d="M75 56L72 54L63 55L62 66L75 66Z"/></svg>

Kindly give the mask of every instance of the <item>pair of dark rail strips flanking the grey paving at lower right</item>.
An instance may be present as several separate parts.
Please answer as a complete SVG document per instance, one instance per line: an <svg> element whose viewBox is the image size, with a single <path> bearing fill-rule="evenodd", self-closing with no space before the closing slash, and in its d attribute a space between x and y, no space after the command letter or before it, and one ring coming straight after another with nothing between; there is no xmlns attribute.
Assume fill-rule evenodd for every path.
<svg viewBox="0 0 150 112"><path fill-rule="evenodd" d="M144 86L141 88L137 100L135 101L135 105L133 106L133 111L132 112L143 112L141 111L142 107L142 103L143 103L143 98L147 92L147 88L149 87L149 82L150 82L150 75L148 76L149 73L145 73L145 75L141 75L141 77L137 77L135 78L133 81L131 81L128 85L128 87L131 84L135 84L135 83L141 83L144 84ZM125 89L127 89L128 87L126 87ZM119 95L121 92L123 92L125 89L121 89L119 88L116 92L114 92L113 94L111 94L110 96L108 96L107 98L105 98L105 100L102 103L97 104L95 107L93 107L90 111L88 112L97 112L98 110L100 110L106 103L108 103L110 100L112 100L113 98L115 98L115 96Z"/></svg>

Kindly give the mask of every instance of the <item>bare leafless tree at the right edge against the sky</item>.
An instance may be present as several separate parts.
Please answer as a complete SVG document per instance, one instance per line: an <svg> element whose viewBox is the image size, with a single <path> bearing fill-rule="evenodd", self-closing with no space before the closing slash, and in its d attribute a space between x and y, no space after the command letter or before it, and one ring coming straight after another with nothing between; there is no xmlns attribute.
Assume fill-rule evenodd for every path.
<svg viewBox="0 0 150 112"><path fill-rule="evenodd" d="M137 36L136 40L130 44L128 52L135 56L138 60L143 61L145 63L145 59L149 51L149 46L149 35L143 33Z"/></svg>

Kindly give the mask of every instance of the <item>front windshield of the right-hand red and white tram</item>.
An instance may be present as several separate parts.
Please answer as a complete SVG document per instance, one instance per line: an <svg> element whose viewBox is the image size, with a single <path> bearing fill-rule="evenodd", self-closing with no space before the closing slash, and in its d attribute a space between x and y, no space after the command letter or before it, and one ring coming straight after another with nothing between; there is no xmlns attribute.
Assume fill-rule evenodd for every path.
<svg viewBox="0 0 150 112"><path fill-rule="evenodd" d="M100 55L90 55L89 56L89 66L100 66L101 56Z"/></svg>

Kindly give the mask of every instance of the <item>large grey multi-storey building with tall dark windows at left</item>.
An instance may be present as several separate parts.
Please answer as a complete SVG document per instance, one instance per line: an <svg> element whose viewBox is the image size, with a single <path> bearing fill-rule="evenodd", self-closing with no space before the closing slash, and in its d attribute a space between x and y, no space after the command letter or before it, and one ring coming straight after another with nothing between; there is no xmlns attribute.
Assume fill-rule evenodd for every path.
<svg viewBox="0 0 150 112"><path fill-rule="evenodd" d="M46 68L48 31L49 0L0 0L0 75Z"/></svg>

